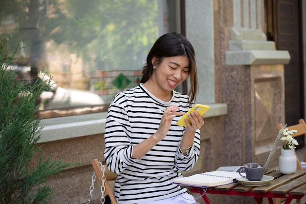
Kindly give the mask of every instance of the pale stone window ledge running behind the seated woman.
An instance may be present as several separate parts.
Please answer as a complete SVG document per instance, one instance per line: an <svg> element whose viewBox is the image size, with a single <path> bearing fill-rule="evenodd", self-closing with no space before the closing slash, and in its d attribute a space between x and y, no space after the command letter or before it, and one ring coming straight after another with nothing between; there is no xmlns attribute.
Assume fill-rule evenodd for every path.
<svg viewBox="0 0 306 204"><path fill-rule="evenodd" d="M207 105L210 106L210 110L205 114L204 118L227 114L227 105L224 103ZM42 126L43 129L38 143L103 134L106 116L107 112L103 112L43 119L40 122L40 126Z"/></svg>

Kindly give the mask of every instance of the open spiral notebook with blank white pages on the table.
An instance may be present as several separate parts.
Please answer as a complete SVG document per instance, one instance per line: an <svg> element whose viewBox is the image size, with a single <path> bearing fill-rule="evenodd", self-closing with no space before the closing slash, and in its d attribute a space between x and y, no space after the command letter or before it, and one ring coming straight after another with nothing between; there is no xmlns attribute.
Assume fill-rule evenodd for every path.
<svg viewBox="0 0 306 204"><path fill-rule="evenodd" d="M174 184L185 184L196 187L212 187L224 184L231 184L240 177L238 172L209 171L183 178L176 178Z"/></svg>

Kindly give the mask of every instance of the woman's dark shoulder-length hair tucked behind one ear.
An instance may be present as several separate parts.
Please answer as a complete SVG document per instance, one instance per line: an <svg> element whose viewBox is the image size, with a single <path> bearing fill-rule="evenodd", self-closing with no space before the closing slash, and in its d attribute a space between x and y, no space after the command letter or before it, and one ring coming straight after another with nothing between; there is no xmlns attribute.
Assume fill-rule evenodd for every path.
<svg viewBox="0 0 306 204"><path fill-rule="evenodd" d="M188 75L190 80L190 89L188 96L190 97L189 103L195 102L198 87L195 50L192 44L181 34L167 33L157 39L148 54L147 63L143 67L142 78L140 82L145 83L151 78L153 73L153 57L158 59L156 64L159 64L164 60L164 58L175 56L186 56L189 58L190 68Z"/></svg>

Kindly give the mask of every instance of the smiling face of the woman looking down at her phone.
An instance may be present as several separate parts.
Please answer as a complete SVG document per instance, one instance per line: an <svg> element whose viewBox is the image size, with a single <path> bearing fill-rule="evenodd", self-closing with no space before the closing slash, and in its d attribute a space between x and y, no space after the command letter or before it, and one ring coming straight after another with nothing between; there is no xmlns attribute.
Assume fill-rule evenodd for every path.
<svg viewBox="0 0 306 204"><path fill-rule="evenodd" d="M157 59L153 58L154 61ZM173 91L176 86L188 78L190 61L186 56L167 57L156 64L153 81L164 91Z"/></svg>

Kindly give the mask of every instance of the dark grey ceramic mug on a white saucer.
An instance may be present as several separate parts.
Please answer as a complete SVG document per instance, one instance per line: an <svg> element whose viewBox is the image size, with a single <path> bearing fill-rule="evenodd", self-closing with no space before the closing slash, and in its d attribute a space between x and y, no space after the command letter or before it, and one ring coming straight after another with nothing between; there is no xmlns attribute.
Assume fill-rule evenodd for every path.
<svg viewBox="0 0 306 204"><path fill-rule="evenodd" d="M262 180L264 169L264 163L246 163L240 169L239 174L249 181L260 181ZM241 173L245 173L245 176L241 175Z"/></svg>

